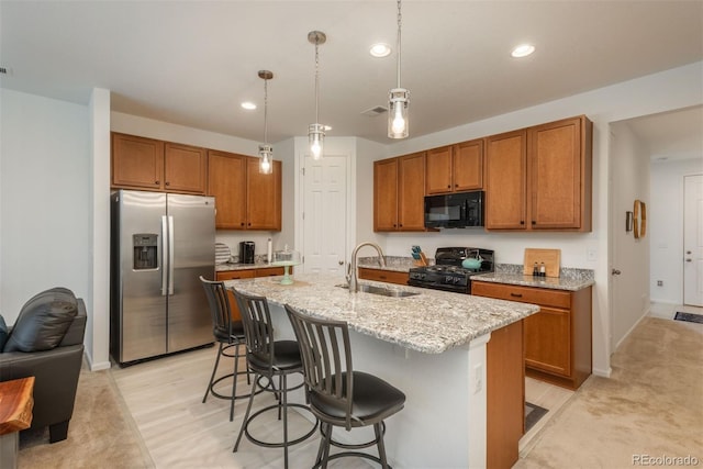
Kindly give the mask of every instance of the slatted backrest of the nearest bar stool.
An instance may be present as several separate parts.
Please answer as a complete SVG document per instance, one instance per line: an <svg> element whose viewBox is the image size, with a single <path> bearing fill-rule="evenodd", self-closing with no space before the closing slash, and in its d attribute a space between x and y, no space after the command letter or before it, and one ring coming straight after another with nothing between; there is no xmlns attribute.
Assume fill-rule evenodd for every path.
<svg viewBox="0 0 703 469"><path fill-rule="evenodd" d="M346 322L304 315L286 305L303 360L303 376L310 393L345 414L346 429L352 428L354 367L349 328Z"/></svg>

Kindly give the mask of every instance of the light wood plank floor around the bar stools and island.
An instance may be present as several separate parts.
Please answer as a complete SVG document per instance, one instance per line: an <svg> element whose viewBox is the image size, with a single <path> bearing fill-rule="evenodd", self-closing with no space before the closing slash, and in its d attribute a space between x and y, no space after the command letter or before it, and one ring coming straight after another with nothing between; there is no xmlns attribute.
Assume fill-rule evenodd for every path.
<svg viewBox="0 0 703 469"><path fill-rule="evenodd" d="M672 319L676 311L702 313L703 309L680 305L654 304L650 315ZM237 401L234 422L230 422L230 403L213 397L202 403L205 386L212 372L215 348L205 348L168 358L144 362L127 368L113 368L114 380L132 413L144 443L156 468L281 468L283 453L279 448L261 448L243 439L239 451L232 453L246 400ZM221 370L232 369L232 361L222 362ZM246 387L246 378L241 377L241 388ZM226 389L222 390L223 393ZM527 401L548 409L549 412L523 436L521 453L538 445L535 438L557 411L571 399L572 391L526 379ZM272 397L257 395L255 407L272 403ZM275 418L275 415L271 417ZM290 434L300 435L309 422L291 412ZM278 435L267 434L266 428L279 429L276 422L261 420L261 425L253 427L255 435L263 439L275 439ZM290 449L291 468L310 467L314 461L319 435ZM362 459L343 458L330 465L333 468L368 468Z"/></svg>

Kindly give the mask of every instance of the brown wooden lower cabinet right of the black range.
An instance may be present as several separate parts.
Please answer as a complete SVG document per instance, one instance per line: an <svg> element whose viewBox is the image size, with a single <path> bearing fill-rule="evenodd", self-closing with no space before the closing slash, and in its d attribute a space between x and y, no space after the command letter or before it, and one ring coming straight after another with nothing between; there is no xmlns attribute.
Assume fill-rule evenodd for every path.
<svg viewBox="0 0 703 469"><path fill-rule="evenodd" d="M574 390L591 375L591 287L566 291L472 281L471 294L540 308L524 320L526 376Z"/></svg>

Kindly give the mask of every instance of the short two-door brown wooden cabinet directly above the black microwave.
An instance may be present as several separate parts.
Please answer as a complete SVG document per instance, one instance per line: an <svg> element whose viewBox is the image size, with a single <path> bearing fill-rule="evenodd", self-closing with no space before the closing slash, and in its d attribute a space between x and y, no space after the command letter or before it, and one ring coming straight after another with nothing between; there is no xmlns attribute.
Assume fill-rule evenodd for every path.
<svg viewBox="0 0 703 469"><path fill-rule="evenodd" d="M425 193L479 190L483 187L483 139L427 150Z"/></svg>

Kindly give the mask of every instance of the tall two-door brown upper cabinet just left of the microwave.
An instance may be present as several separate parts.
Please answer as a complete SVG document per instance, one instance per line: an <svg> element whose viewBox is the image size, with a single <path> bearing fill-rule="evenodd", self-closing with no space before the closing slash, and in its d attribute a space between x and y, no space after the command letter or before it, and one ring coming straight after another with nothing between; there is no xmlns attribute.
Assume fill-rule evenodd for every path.
<svg viewBox="0 0 703 469"><path fill-rule="evenodd" d="M373 231L425 231L425 152L373 163Z"/></svg>

